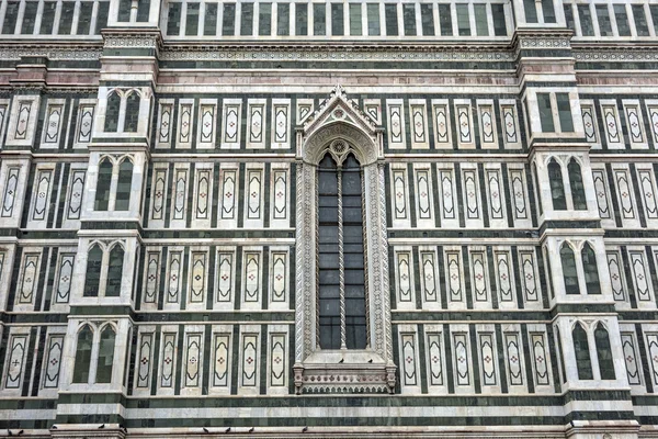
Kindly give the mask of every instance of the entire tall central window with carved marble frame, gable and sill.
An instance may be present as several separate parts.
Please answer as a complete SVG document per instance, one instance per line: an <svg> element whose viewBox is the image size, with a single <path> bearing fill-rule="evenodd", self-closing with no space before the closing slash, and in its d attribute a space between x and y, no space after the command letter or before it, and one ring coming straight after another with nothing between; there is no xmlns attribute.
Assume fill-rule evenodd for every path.
<svg viewBox="0 0 658 439"><path fill-rule="evenodd" d="M306 121L297 143L295 389L393 392L383 130L341 87ZM356 369L384 379L365 390ZM354 378L327 385L321 375Z"/></svg>

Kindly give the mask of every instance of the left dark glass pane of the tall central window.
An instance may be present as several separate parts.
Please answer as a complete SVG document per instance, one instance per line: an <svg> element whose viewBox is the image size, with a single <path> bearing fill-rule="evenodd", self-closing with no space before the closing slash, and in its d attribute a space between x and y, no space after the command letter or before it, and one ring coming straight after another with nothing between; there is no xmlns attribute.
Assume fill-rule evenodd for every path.
<svg viewBox="0 0 658 439"><path fill-rule="evenodd" d="M338 168L329 154L318 167L318 210L320 347L340 349Z"/></svg>

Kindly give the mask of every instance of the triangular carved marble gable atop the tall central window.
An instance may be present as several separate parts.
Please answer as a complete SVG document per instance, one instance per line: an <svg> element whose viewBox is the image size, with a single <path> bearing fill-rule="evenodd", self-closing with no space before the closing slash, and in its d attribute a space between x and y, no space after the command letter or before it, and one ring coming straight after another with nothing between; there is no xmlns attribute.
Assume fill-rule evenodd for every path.
<svg viewBox="0 0 658 439"><path fill-rule="evenodd" d="M334 122L352 124L373 138L377 130L376 123L361 110L356 101L348 98L340 85L336 86L329 98L320 102L318 109L306 117L303 127L304 136L308 137L318 128Z"/></svg>

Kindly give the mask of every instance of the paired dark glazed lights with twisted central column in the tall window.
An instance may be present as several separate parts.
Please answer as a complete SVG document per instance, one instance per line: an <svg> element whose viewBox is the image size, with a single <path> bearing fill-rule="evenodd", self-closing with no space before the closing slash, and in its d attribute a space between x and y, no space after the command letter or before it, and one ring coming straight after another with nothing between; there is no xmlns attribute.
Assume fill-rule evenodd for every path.
<svg viewBox="0 0 658 439"><path fill-rule="evenodd" d="M342 149L341 149L342 148ZM332 145L333 151L347 146ZM327 153L318 166L318 306L322 349L364 349L365 260L361 166Z"/></svg>

